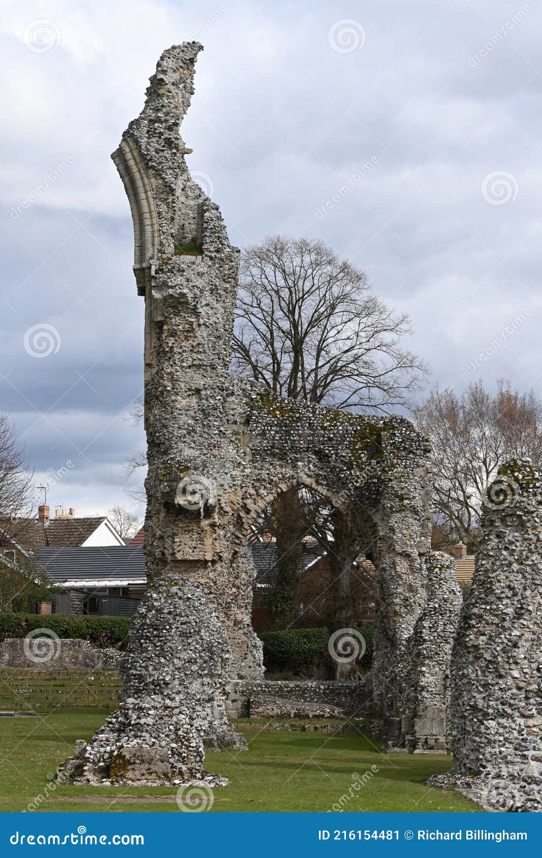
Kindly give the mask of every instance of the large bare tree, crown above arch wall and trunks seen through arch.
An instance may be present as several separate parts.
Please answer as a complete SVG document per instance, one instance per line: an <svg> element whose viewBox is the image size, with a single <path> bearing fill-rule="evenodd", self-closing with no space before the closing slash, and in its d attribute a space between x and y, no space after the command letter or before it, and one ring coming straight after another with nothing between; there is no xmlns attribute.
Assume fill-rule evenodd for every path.
<svg viewBox="0 0 542 858"><path fill-rule="evenodd" d="M279 396L335 408L386 413L405 406L427 367L404 345L411 332L372 291L367 275L321 241L275 235L241 257L232 369ZM266 513L277 543L271 611L288 621L299 583L302 540L310 533L328 556L331 582L350 581L354 535L322 498L297 488ZM350 585L347 584L347 589ZM335 595L346 615L349 595Z"/></svg>

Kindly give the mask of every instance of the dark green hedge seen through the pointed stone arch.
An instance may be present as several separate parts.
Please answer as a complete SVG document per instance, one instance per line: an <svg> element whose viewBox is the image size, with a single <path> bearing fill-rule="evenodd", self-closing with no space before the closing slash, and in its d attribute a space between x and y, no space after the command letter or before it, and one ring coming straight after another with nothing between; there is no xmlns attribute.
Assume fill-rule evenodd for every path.
<svg viewBox="0 0 542 858"><path fill-rule="evenodd" d="M370 668L373 657L373 626L358 629L365 639L364 656L357 662ZM330 632L326 628L286 629L265 631L259 635L264 644L264 664L267 670L299 673L308 668L325 668L332 665L327 649Z"/></svg>

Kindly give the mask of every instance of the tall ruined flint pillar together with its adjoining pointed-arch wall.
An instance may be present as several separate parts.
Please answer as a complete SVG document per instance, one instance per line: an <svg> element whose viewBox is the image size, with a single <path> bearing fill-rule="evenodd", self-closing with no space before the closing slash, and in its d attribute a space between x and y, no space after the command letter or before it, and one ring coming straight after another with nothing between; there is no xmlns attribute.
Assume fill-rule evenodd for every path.
<svg viewBox="0 0 542 858"><path fill-rule="evenodd" d="M228 679L263 679L246 538L285 488L320 491L374 558L374 696L386 717L402 705L405 642L427 600L425 439L400 417L284 401L229 375L239 251L179 135L200 50L164 51L113 154L145 299L149 589L131 622L119 710L71 763L84 782L198 780L204 746L242 746L226 716Z"/></svg>

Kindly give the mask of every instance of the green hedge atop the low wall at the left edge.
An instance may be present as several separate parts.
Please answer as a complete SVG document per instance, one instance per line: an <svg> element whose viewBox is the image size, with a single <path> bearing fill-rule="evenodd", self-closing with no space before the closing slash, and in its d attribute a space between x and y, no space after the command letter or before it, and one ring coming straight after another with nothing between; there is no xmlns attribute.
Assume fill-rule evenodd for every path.
<svg viewBox="0 0 542 858"><path fill-rule="evenodd" d="M124 649L130 617L94 617L80 613L0 613L0 643L26 637L33 629L51 629L58 637L89 641L94 647Z"/></svg>

